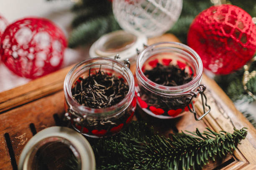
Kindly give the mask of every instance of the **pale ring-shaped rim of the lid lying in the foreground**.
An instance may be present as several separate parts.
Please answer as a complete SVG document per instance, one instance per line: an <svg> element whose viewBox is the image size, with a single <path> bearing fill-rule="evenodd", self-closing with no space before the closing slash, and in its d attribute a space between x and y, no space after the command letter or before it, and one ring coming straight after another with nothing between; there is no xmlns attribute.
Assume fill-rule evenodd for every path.
<svg viewBox="0 0 256 170"><path fill-rule="evenodd" d="M42 144L45 142L51 142L48 139L54 138L62 138L65 142L70 143L72 147L79 154L79 160L81 160L81 170L94 170L95 169L95 156L92 150L90 143L84 138L80 133L67 128L60 126L53 126L50 128L46 128L41 130L36 135L34 135L28 143L23 148L20 159L18 163L19 170L28 169L29 166L29 158L32 156L32 151L35 147L38 147L38 144ZM67 143L66 143L67 144ZM40 146L41 147L41 146ZM40 148L39 147L39 148ZM37 148L37 150L39 149ZM74 154L74 152L73 152Z"/></svg>

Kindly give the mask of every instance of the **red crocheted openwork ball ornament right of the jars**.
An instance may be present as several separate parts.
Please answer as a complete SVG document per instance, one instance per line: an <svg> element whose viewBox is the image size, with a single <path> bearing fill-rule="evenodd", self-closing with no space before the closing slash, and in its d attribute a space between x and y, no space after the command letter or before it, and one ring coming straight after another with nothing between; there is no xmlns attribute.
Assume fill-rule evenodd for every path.
<svg viewBox="0 0 256 170"><path fill-rule="evenodd" d="M192 22L187 43L201 57L206 69L216 74L229 74L253 57L256 26L240 7L212 6Z"/></svg>

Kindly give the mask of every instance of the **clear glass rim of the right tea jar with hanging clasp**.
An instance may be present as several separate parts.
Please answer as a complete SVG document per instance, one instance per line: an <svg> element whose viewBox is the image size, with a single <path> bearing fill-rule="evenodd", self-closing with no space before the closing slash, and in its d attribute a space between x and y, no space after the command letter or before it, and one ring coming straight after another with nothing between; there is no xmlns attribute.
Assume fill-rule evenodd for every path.
<svg viewBox="0 0 256 170"><path fill-rule="evenodd" d="M156 46L158 45L164 45L164 44L169 44L169 45L173 45L172 48L177 48L179 49L177 46L182 47L183 49L186 49L187 52L189 52L191 55L193 55L196 59L196 61L198 62L198 72L196 74L196 76L193 78L193 80L187 82L186 84L183 85L178 85L178 86L165 86L165 85L159 85L153 81L151 81L150 79L148 79L148 77L146 77L146 75L144 75L143 71L142 71L142 67L141 67L141 59L143 58L143 56L145 55L146 52L148 52L149 50L154 50L154 48L156 48ZM163 47L170 47L170 46L163 46ZM183 50L183 49L180 50ZM185 50L183 50L184 52L186 52ZM161 92L165 92L166 94L169 94L170 92L172 93L183 93L181 92L181 90L186 89L187 87L191 86L191 89L189 88L188 90L192 90L193 85L195 85L201 78L202 78L202 70L203 70L203 66L202 66L202 60L200 58L200 56L197 54L197 52L195 52L195 50L193 50L191 47L184 45L180 42L171 42L171 41L166 41L166 42L158 42L155 44L152 44L150 46L148 46L147 48L145 48L139 55L138 55L138 59L136 62L136 75L139 75L141 77L141 80L146 83L146 85L148 87L150 87L151 89L154 89L156 91L161 91ZM172 94L174 95L174 94Z"/></svg>

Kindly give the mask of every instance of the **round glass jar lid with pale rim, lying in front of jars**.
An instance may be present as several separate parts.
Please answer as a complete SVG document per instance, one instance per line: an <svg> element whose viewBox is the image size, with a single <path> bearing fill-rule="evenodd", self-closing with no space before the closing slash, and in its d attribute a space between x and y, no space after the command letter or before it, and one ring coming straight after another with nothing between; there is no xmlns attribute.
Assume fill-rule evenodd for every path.
<svg viewBox="0 0 256 170"><path fill-rule="evenodd" d="M66 127L50 127L31 138L20 155L18 170L95 170L90 143Z"/></svg>

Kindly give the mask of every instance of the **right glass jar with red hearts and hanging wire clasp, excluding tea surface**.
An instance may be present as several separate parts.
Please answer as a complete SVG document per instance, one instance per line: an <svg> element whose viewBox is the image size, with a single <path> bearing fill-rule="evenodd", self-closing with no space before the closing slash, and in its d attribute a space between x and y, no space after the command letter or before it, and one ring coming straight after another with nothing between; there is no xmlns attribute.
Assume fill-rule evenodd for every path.
<svg viewBox="0 0 256 170"><path fill-rule="evenodd" d="M178 86L159 85L149 80L143 73L145 70L153 69L157 63L178 65L193 79ZM187 45L179 42L159 42L148 46L138 55L136 63L138 106L149 115L161 119L179 117L187 111L194 113L196 120L202 119L210 112L204 94L206 87L200 85L202 69L199 55ZM193 103L199 94L201 94L204 114L197 118ZM205 106L208 107L207 110Z"/></svg>

